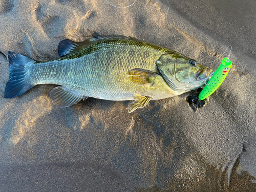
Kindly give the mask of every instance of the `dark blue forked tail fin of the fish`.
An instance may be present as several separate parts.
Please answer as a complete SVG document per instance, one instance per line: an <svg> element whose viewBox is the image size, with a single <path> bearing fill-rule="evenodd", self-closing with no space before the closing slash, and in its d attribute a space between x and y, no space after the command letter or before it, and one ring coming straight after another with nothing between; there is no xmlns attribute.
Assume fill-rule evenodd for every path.
<svg viewBox="0 0 256 192"><path fill-rule="evenodd" d="M13 52L8 52L8 59L9 81L5 87L5 98L13 98L34 87L30 79L30 66L35 61Z"/></svg>

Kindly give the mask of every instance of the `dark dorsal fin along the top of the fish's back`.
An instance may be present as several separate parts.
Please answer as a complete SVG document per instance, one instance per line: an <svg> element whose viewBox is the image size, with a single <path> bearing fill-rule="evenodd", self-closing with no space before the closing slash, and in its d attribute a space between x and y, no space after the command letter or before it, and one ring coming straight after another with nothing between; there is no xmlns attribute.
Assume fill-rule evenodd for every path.
<svg viewBox="0 0 256 192"><path fill-rule="evenodd" d="M59 53L59 56L61 57L67 56L74 52L80 51L92 44L95 44L97 41L103 41L108 39L127 39L127 40L141 41L134 37L126 37L123 35L110 35L110 36L102 36L102 37L99 36L98 38L90 38L81 42L75 42L75 41L66 39L59 42L58 53Z"/></svg>

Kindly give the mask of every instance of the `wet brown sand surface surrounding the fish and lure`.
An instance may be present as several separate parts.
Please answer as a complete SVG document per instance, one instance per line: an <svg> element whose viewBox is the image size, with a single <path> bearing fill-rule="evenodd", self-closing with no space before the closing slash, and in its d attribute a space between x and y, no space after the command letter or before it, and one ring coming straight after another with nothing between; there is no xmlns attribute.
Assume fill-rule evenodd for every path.
<svg viewBox="0 0 256 192"><path fill-rule="evenodd" d="M0 191L256 191L255 10L254 0L0 1ZM197 91L131 114L129 101L95 98L56 108L50 84L4 98L8 51L46 61L63 39L100 35L175 49L168 25L177 51L201 62L232 46L233 67L202 108L186 101Z"/></svg>

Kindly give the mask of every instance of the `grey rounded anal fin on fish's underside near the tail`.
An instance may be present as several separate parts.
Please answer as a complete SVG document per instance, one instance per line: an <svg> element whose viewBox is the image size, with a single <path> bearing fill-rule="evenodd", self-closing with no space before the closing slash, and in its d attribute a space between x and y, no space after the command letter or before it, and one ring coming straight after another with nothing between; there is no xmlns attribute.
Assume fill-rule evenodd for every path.
<svg viewBox="0 0 256 192"><path fill-rule="evenodd" d="M63 108L65 106L71 106L76 104L81 99L87 99L87 96L80 95L75 93L65 87L56 87L50 92L52 103L59 107Z"/></svg>

